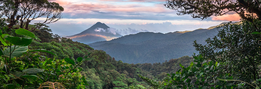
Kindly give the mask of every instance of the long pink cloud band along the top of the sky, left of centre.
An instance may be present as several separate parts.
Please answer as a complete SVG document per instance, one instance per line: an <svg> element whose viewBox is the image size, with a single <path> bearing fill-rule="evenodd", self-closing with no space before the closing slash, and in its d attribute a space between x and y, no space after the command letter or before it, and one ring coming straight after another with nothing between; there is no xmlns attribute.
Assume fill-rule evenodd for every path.
<svg viewBox="0 0 261 89"><path fill-rule="evenodd" d="M111 1L111 0L103 0ZM122 1L122 0L114 0ZM165 1L165 0L128 0L128 1ZM112 3L72 3L64 0L55 0L54 2L59 3L64 7L64 12L85 12L91 13L97 12L167 12L166 8L162 4L155 4L154 6L144 6L142 4L112 4ZM170 11L170 10L168 10Z"/></svg>

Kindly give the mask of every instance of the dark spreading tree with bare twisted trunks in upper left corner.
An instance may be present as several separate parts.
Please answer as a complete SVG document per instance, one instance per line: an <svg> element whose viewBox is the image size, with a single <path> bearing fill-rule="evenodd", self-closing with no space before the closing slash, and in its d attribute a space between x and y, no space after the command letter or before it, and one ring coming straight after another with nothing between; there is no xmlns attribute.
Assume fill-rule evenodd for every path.
<svg viewBox="0 0 261 89"><path fill-rule="evenodd" d="M2 15L10 19L9 28L20 21L20 28L27 30L29 23L36 18L46 18L37 23L36 28L58 21L64 10L58 3L47 0L1 0L0 4L3 4L2 8L0 7Z"/></svg>

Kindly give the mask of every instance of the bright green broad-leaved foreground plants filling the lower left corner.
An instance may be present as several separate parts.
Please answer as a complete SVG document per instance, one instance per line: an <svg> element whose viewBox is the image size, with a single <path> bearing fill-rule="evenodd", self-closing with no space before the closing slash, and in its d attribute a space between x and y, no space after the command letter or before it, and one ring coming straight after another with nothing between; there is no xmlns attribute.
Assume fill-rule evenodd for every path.
<svg viewBox="0 0 261 89"><path fill-rule="evenodd" d="M37 88L39 84L47 81L62 82L67 88L85 88L81 85L87 85L87 82L85 77L79 74L82 69L77 66L81 65L82 61L89 60L88 55L85 58L79 57L77 64L68 58L69 61L47 58L39 52L55 54L47 50L28 50L32 38L36 38L33 33L22 28L15 30L15 33L27 38L0 32L1 42L5 43L0 53L0 80L3 81L0 82L1 89Z"/></svg>

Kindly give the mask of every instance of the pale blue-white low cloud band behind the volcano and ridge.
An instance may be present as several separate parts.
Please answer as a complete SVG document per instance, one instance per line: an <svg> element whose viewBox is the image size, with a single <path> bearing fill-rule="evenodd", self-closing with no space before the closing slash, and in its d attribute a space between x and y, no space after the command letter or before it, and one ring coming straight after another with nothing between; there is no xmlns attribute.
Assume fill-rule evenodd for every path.
<svg viewBox="0 0 261 89"><path fill-rule="evenodd" d="M44 20L45 18L42 19ZM38 23L38 22L39 22L38 20L34 20L31 23ZM82 22L82 24L77 24L78 22ZM61 20L58 20L57 23L50 23L47 25L50 26L50 29L52 29L52 32L54 34L69 36L69 35L79 34L80 32L90 28L97 22L105 23L107 26L109 26L110 33L117 32L121 35L128 35L128 34L139 33L142 31L160 32L160 33L186 31L186 30L192 31L198 28L209 28L211 26L216 26L224 21L63 18ZM202 25L194 25L195 23L198 22L201 23ZM142 23L147 23L147 24L142 24Z"/></svg>

